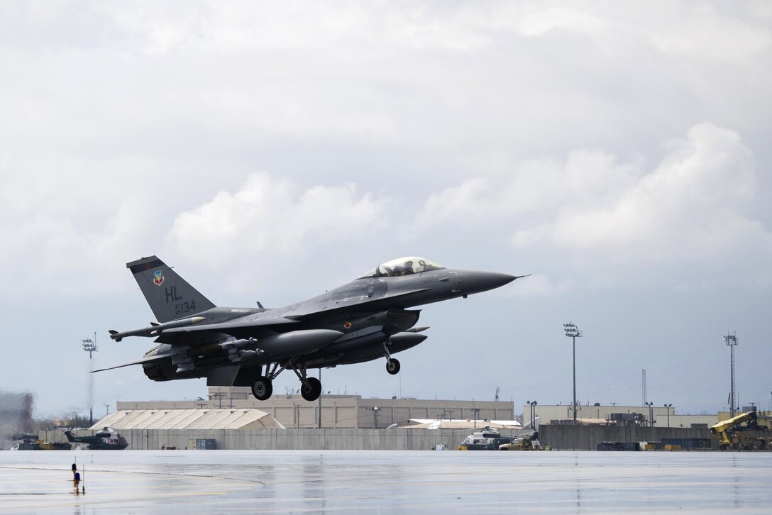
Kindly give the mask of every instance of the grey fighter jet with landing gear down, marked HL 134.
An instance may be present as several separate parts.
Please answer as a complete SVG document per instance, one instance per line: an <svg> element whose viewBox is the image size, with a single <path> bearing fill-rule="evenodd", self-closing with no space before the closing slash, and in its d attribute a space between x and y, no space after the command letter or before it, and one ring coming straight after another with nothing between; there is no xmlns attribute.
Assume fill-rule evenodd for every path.
<svg viewBox="0 0 772 515"><path fill-rule="evenodd" d="M249 386L264 401L285 370L300 379L306 401L322 385L308 370L392 357L426 339L420 310L408 308L493 290L523 276L447 269L428 259L393 259L350 283L299 303L266 309L216 307L156 256L127 263L157 319L141 329L110 331L114 341L155 337L141 360L153 381L206 378L208 386ZM110 370L103 368L102 370Z"/></svg>

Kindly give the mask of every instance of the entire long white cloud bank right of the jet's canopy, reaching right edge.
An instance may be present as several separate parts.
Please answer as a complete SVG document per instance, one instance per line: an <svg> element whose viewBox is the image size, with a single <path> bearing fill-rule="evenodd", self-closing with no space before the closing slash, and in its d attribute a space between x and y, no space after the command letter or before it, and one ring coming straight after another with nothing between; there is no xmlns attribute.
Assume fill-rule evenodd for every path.
<svg viewBox="0 0 772 515"><path fill-rule="evenodd" d="M492 238L509 234L518 253L597 275L631 273L642 263L674 271L698 264L703 271L743 266L743 275L764 282L772 234L753 216L758 182L740 135L706 123L668 141L655 166L577 149L563 160L525 161L509 176L445 188L418 219Z"/></svg>

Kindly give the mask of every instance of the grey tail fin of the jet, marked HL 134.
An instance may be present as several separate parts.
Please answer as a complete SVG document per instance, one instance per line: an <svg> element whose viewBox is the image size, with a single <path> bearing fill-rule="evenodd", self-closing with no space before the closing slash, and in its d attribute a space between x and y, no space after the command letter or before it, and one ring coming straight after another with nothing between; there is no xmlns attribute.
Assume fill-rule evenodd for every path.
<svg viewBox="0 0 772 515"><path fill-rule="evenodd" d="M163 323L215 305L156 256L126 263L156 319Z"/></svg>

